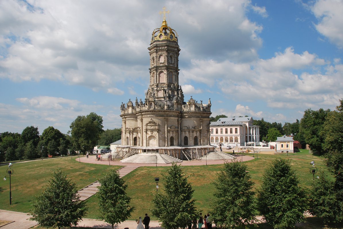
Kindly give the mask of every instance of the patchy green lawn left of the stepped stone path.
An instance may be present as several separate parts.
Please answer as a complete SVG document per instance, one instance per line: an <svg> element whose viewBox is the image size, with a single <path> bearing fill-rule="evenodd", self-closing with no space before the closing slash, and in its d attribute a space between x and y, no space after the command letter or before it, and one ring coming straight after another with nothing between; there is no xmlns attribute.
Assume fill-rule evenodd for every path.
<svg viewBox="0 0 343 229"><path fill-rule="evenodd" d="M25 163L15 163L11 176L12 205L9 201L9 179L0 181L0 209L28 213L34 196L43 192L42 187L47 184L47 179L52 178L52 173L61 168L68 178L77 183L81 189L96 181L107 169L118 169L121 166L106 166L85 164L73 160L71 157L61 157L49 160L35 160ZM1 165L1 176L6 175L7 166ZM2 178L2 177L1 177Z"/></svg>

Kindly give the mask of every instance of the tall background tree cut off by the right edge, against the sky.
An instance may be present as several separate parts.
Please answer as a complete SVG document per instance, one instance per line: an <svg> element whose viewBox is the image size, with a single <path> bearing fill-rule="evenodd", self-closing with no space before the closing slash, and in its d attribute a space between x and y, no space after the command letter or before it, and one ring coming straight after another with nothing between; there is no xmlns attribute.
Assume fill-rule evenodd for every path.
<svg viewBox="0 0 343 229"><path fill-rule="evenodd" d="M329 151L343 151L343 99L336 109L328 113L322 130L323 148Z"/></svg>

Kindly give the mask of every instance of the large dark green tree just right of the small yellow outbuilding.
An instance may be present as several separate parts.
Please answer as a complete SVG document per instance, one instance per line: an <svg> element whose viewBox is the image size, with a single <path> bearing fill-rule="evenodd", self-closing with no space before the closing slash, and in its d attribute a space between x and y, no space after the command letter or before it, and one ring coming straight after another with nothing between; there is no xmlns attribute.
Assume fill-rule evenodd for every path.
<svg viewBox="0 0 343 229"><path fill-rule="evenodd" d="M307 109L304 113L303 118L300 120L299 133L301 133L307 144L309 144L312 151L323 154L323 142L324 138L322 130L325 119L330 113L330 109L323 110L322 108L318 111L312 111Z"/></svg>

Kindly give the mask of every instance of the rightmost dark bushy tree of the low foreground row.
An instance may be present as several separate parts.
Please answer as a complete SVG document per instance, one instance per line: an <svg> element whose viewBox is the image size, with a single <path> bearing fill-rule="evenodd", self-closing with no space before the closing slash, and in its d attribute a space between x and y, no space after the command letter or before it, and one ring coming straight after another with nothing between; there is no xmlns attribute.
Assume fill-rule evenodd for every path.
<svg viewBox="0 0 343 229"><path fill-rule="evenodd" d="M309 212L323 218L325 224L343 221L343 203L335 190L335 182L324 173L313 182L309 201Z"/></svg>

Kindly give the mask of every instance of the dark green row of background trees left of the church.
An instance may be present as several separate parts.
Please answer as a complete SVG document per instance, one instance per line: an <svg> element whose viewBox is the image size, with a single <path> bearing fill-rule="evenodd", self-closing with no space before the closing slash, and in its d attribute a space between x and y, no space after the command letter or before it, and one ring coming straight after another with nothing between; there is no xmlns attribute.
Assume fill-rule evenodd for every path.
<svg viewBox="0 0 343 229"><path fill-rule="evenodd" d="M28 126L23 132L3 132L0 136L0 162L33 159L70 152L92 151L95 145L109 145L121 138L121 129L103 130L102 116L92 112L78 116L63 134L52 126L39 135L38 127ZM71 134L71 136L70 136Z"/></svg>

